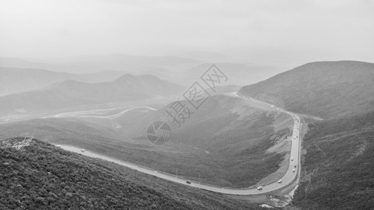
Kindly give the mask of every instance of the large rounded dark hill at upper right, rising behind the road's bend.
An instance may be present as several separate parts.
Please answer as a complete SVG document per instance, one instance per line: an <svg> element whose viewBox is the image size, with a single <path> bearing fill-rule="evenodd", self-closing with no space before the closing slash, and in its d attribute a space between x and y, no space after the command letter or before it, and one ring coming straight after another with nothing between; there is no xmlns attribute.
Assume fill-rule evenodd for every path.
<svg viewBox="0 0 374 210"><path fill-rule="evenodd" d="M313 62L242 87L240 93L321 118L373 111L374 64Z"/></svg>

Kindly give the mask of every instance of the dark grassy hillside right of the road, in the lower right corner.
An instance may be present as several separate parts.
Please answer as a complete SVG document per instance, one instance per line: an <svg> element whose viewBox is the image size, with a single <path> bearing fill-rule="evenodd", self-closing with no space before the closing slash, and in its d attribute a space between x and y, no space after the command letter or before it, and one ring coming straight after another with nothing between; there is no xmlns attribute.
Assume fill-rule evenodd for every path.
<svg viewBox="0 0 374 210"><path fill-rule="evenodd" d="M373 209L374 112L309 124L304 147L293 204L302 209Z"/></svg>

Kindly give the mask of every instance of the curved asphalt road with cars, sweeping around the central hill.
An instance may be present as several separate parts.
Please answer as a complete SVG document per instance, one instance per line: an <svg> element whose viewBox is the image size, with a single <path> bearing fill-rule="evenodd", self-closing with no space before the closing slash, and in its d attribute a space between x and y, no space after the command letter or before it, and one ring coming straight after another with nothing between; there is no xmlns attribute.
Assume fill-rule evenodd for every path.
<svg viewBox="0 0 374 210"><path fill-rule="evenodd" d="M231 93L230 95L234 97L243 97L239 96L236 92ZM293 181L296 180L299 172L300 172L300 118L297 116L295 113L290 113L288 111L285 111L283 109L277 108L276 106L273 106L272 104L267 104L265 102L258 101L253 98L246 98L245 99L251 100L252 102L258 103L258 104L264 104L266 106L271 107L272 109L276 109L278 111L284 112L289 114L290 116L293 117L294 119L294 126L293 126L293 135L292 135L292 144L291 144L291 150L290 150L290 157L293 157L293 160L290 159L289 166L287 169L286 174L283 175L281 178L282 182L278 183L278 180L274 180L274 183L270 183L267 186L262 186L262 190L258 190L257 188L222 188L218 186L211 186L207 185L204 183L196 183L191 181L191 183L186 183L188 181L187 179L181 179L179 177L175 177L173 174L165 174L163 172L157 172L154 169L149 169L147 167L142 167L140 165L135 165L132 162L125 162L122 160L116 160L114 158L109 158L105 155L100 155L97 153L92 153L90 151L85 151L81 152L81 149L76 148L74 146L65 146L62 145L61 148L67 150L67 151L72 151L76 153L81 153L83 155L93 157L93 158L100 158L102 160L107 160L110 162L115 162L119 165L122 165L124 167L128 167L131 169L135 169L139 172L143 172L145 174L151 174L154 176L157 176L161 179L166 179L168 181L173 181L176 183L181 183L186 186L192 186L194 188L201 188L204 190L210 190L216 193L225 193L225 194L231 194L231 195L256 195L256 194L261 194L261 193L269 193L274 190L278 190L280 188L283 188L285 186L288 186L290 183L293 183ZM295 165L297 167L295 167ZM295 169L295 172L293 172L293 169Z"/></svg>

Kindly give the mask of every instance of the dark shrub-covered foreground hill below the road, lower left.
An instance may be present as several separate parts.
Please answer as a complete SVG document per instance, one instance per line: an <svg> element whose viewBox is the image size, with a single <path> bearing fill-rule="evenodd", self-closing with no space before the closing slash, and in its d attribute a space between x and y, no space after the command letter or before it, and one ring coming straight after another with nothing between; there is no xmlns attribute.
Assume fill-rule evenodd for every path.
<svg viewBox="0 0 374 210"><path fill-rule="evenodd" d="M0 209L259 209L34 140L0 148Z"/></svg>

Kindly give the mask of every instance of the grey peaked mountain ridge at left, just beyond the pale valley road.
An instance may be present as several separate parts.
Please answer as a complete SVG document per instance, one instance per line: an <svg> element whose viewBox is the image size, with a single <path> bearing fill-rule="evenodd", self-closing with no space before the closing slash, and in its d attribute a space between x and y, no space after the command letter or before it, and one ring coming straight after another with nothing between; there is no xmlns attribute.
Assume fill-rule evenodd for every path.
<svg viewBox="0 0 374 210"><path fill-rule="evenodd" d="M91 104L109 104L182 92L183 87L156 76L126 74L105 83L83 83L66 80L43 90L9 94L0 97L0 115L46 111Z"/></svg>

